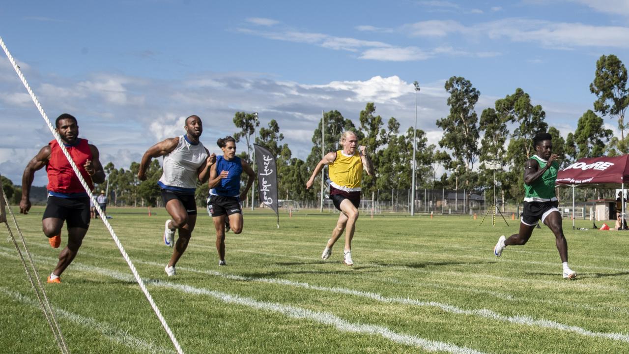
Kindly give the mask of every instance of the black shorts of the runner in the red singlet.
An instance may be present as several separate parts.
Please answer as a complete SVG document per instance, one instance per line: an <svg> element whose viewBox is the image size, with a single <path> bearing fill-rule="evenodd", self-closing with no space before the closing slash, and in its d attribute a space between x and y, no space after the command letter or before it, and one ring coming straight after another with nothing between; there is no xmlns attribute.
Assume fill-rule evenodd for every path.
<svg viewBox="0 0 629 354"><path fill-rule="evenodd" d="M89 198L60 198L48 196L43 219L55 217L65 220L65 227L89 228Z"/></svg>

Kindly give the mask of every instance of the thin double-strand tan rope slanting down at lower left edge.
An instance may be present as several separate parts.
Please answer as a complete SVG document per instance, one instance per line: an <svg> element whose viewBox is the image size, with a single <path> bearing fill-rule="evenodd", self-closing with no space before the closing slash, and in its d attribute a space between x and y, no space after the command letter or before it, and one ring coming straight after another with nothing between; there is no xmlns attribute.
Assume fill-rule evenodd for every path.
<svg viewBox="0 0 629 354"><path fill-rule="evenodd" d="M55 337L55 341L57 341L57 345L63 354L69 354L68 346L65 344L64 335L61 333L61 328L59 328L59 324L57 322L57 317L55 317L55 312L52 311L52 306L50 305L50 300L48 300L48 296L46 295L46 291L42 285L39 274L37 273L37 269L35 268L35 263L33 262L33 258L31 257L31 253L26 248L26 241L22 234L22 231L19 229L18 220L15 219L15 215L13 215L13 210L11 210L11 205L9 205L9 200L6 197L6 194L3 191L0 191L0 194L4 197L4 202L6 203L6 208L9 210L9 214L11 214L11 218L13 219L13 224L15 225L16 230L18 231L19 237L22 241L22 245L24 247L24 251L28 256L28 260L30 261L31 271L33 275L35 275L35 279L37 280L37 285L33 281L33 277L26 266L26 262L24 261L24 256L22 255L21 250L19 249L18 243L15 241L15 237L13 236L13 232L11 231L11 227L9 227L9 222L5 222L6 229L9 232L9 236L11 236L11 241L13 241L13 245L15 249L18 250L19 260L22 262L22 266L24 266L24 270L26 271L26 277L28 277L28 281L31 283L33 290L35 290L35 295L37 296L37 300L39 300L40 306L42 307L42 311L44 316L46 317L46 321L48 322L48 326L50 326L50 330L52 331L53 336ZM41 294L41 295L40 295ZM42 300L43 297L43 300Z"/></svg>

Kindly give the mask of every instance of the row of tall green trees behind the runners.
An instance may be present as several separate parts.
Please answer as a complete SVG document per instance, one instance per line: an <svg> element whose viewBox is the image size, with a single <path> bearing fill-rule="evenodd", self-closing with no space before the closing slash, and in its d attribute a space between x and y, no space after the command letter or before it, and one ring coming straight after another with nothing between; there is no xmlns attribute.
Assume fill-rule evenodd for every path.
<svg viewBox="0 0 629 354"><path fill-rule="evenodd" d="M593 110L585 111L578 118L576 130L569 132L566 139L559 129L548 125L542 106L533 105L529 94L521 88L496 100L493 107L481 112L480 118L476 104L481 93L469 80L453 76L444 88L449 94L450 111L447 117L436 122L443 130L438 147L428 144L423 130L414 132L413 127L401 127L395 117L383 119L377 115L372 102L360 111L358 125L337 110L323 113L305 161L292 157L291 149L282 143L284 135L274 119L267 127L260 127L257 115L239 111L233 117L237 128L233 137L245 146L239 156L252 166L253 142L267 147L276 156L279 198L292 200L318 200L319 191L317 188L306 190L306 181L323 154L339 149L340 135L345 130L353 130L360 144L367 146L376 169L375 176L364 176L365 198L379 190L381 200L391 198L388 193L392 188L411 188L413 144L417 151L416 188L447 188L468 193L485 190L486 200L493 200L495 172L499 194L496 198L503 202L523 198L521 166L532 156L531 139L538 132L552 135L554 153L562 156L564 166L582 157L617 156L629 151L629 137L625 136L629 124L624 121L629 105L627 71L616 55L603 55L597 60L594 80L589 85L596 97ZM616 118L620 137L613 136L613 132L604 127L604 117ZM322 140L322 130L325 140ZM494 171L489 166L496 161L502 168ZM160 200L157 181L162 174L159 161L151 162L145 181L136 178L138 167L139 164L133 162L128 169L116 169L113 163L108 163L104 169L109 185L96 188L108 188L110 202L116 205L156 205ZM439 174L440 171L443 173ZM315 185L318 183L320 181L315 181ZM11 194L16 193L17 190ZM207 195L208 186L199 185L196 191L199 205L204 204Z"/></svg>

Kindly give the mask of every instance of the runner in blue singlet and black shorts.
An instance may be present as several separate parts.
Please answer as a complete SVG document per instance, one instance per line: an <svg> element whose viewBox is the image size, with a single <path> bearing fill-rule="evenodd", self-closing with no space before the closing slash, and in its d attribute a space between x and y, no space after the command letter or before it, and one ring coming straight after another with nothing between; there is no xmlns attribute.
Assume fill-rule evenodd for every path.
<svg viewBox="0 0 629 354"><path fill-rule="evenodd" d="M218 265L225 265L225 232L230 229L235 234L242 232L240 201L247 197L255 173L246 161L236 156L236 140L233 137L218 139L216 144L223 150L223 156L216 157L216 163L209 172L208 214L216 229ZM243 171L249 178L247 187L240 193L240 175Z"/></svg>

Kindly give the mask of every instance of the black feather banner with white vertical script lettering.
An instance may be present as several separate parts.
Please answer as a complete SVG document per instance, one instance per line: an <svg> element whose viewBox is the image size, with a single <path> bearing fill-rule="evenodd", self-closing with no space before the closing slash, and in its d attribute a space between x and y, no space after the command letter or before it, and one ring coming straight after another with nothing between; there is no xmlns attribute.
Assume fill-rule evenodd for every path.
<svg viewBox="0 0 629 354"><path fill-rule="evenodd" d="M279 212L277 211L277 166L275 157L269 149L253 144L255 149L255 165L258 168L258 193L260 202L272 208L277 214L279 227Z"/></svg>

